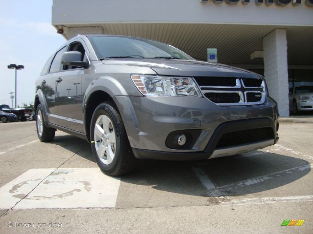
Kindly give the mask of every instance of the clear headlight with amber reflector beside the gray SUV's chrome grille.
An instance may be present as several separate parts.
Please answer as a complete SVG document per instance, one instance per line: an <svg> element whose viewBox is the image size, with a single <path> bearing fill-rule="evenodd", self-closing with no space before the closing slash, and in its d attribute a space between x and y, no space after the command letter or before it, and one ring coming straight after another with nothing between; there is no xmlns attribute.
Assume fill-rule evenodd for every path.
<svg viewBox="0 0 313 234"><path fill-rule="evenodd" d="M132 75L131 79L145 96L201 97L201 93L191 77Z"/></svg>

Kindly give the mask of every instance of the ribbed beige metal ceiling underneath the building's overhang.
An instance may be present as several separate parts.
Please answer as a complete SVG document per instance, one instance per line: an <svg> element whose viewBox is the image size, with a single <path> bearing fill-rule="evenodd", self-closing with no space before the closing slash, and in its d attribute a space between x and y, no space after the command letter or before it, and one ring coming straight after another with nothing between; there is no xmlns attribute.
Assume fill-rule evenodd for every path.
<svg viewBox="0 0 313 234"><path fill-rule="evenodd" d="M263 37L276 26L108 23L68 25L67 27L102 27L104 34L127 35L171 44L192 57L207 59L207 48L218 49L218 62L224 64L263 64L250 60L250 53L263 50ZM313 27L285 27L288 41L288 64L313 65ZM66 37L66 25L64 28Z"/></svg>

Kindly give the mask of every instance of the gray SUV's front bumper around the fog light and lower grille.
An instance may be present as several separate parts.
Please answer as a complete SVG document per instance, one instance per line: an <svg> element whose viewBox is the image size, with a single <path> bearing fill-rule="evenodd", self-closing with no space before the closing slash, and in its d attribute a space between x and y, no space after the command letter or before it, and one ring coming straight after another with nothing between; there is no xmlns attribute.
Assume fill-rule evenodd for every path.
<svg viewBox="0 0 313 234"><path fill-rule="evenodd" d="M187 160L221 157L264 148L275 144L278 139L277 107L270 98L264 104L254 106L218 106L196 97L116 96L115 103L137 158ZM225 133L266 128L272 133L270 137L239 142L232 147L218 146ZM169 134L188 130L201 131L190 148L167 147Z"/></svg>

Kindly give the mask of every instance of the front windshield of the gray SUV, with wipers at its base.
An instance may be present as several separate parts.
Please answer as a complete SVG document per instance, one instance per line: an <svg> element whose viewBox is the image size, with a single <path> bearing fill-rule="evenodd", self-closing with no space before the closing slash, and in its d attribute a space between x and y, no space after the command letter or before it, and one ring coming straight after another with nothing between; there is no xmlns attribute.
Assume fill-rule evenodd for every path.
<svg viewBox="0 0 313 234"><path fill-rule="evenodd" d="M167 58L194 60L173 46L136 37L89 37L99 59Z"/></svg>

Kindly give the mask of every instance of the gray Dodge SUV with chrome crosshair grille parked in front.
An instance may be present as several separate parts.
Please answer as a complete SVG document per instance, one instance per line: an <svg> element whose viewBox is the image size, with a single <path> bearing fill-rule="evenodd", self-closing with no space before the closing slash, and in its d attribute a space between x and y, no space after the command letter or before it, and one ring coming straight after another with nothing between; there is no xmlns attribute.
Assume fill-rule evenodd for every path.
<svg viewBox="0 0 313 234"><path fill-rule="evenodd" d="M144 38L74 37L49 58L36 90L39 139L56 129L86 139L111 176L137 159L217 158L278 140L263 76Z"/></svg>

